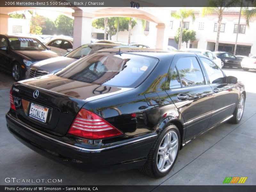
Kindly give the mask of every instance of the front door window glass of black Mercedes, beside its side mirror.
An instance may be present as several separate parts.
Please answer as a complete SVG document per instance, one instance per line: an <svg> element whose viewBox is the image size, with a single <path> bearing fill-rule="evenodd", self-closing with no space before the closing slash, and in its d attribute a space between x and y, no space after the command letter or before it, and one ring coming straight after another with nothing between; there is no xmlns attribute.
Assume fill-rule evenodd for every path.
<svg viewBox="0 0 256 192"><path fill-rule="evenodd" d="M223 83L224 75L220 68L218 68L218 66L209 59L203 57L200 57L200 59L204 65L206 73L208 74L210 83Z"/></svg>

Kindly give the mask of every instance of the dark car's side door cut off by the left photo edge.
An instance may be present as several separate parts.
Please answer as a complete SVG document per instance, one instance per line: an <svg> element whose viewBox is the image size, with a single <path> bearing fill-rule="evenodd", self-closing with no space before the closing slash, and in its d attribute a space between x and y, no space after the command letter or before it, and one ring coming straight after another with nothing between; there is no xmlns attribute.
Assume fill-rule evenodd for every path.
<svg viewBox="0 0 256 192"><path fill-rule="evenodd" d="M9 66L9 52L7 40L5 37L0 36L0 66L1 69L10 70Z"/></svg>

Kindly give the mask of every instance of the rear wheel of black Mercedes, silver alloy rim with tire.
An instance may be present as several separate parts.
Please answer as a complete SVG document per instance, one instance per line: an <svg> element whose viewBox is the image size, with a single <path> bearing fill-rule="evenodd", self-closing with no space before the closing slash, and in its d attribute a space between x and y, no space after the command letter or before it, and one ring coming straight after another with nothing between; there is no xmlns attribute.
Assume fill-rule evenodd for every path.
<svg viewBox="0 0 256 192"><path fill-rule="evenodd" d="M167 175L177 159L180 149L180 132L171 124L157 138L140 172L156 178Z"/></svg>

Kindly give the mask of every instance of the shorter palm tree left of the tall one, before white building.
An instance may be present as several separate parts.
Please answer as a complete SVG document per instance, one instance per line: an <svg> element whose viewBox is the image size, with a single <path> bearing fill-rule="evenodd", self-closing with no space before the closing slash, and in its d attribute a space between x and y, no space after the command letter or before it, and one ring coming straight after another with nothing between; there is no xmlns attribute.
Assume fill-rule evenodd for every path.
<svg viewBox="0 0 256 192"><path fill-rule="evenodd" d="M177 12L172 12L171 16L174 17L175 19L180 20L180 38L179 38L179 45L178 49L181 48L181 43L182 43L182 31L183 31L183 24L184 20L188 17L192 17L193 22L195 21L195 14L192 9L180 9Z"/></svg>

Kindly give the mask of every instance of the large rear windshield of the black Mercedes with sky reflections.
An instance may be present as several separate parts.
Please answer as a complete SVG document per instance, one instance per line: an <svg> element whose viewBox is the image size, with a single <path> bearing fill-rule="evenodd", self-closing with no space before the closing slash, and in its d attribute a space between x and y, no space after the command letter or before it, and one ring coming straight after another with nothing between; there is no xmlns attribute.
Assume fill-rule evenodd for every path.
<svg viewBox="0 0 256 192"><path fill-rule="evenodd" d="M157 59L122 53L92 53L55 73L56 76L112 87L136 87L157 63Z"/></svg>

